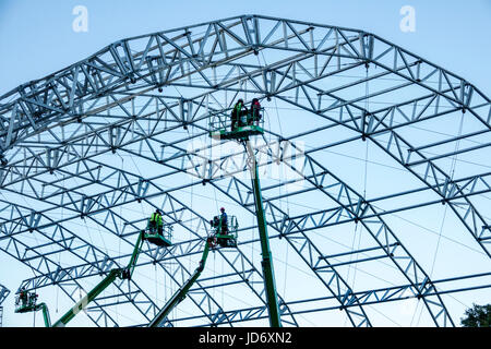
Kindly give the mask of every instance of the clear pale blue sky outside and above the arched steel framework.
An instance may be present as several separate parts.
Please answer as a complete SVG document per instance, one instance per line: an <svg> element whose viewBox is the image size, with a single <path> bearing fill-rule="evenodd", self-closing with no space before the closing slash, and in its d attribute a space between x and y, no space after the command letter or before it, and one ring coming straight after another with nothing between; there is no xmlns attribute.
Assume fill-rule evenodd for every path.
<svg viewBox="0 0 491 349"><path fill-rule="evenodd" d="M88 10L88 32L75 33L75 5ZM403 5L416 10L416 32L403 33ZM443 67L491 95L491 0L0 0L0 95L63 69L121 38L240 14L264 14L374 33ZM12 293L32 272L0 253L0 284ZM8 325L29 325L12 314ZM60 305L60 309L62 306ZM7 311L5 311L7 313ZM28 318L32 318L27 316ZM39 317L38 317L39 318ZM454 318L458 323L458 318Z"/></svg>

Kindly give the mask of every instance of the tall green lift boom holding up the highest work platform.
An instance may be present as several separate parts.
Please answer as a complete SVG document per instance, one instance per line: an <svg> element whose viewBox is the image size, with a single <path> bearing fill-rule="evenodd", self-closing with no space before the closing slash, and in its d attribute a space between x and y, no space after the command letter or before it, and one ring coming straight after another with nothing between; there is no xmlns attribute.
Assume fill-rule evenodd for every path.
<svg viewBox="0 0 491 349"><path fill-rule="evenodd" d="M263 268L264 287L266 289L266 302L270 314L271 327L282 327L279 317L278 297L276 294L275 273L273 269L273 258L270 250L270 237L267 236L266 217L263 209L263 198L261 195L261 183L259 179L258 164L251 143L246 141L246 147L249 153L249 166L251 171L252 188L254 192L255 215L258 217L258 227L261 241L261 266Z"/></svg>

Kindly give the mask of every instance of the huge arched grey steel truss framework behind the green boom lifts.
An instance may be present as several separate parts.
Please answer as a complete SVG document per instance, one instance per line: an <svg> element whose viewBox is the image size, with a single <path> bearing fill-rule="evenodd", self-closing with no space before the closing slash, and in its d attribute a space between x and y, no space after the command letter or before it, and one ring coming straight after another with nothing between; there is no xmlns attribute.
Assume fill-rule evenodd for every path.
<svg viewBox="0 0 491 349"><path fill-rule="evenodd" d="M376 326L408 299L427 324L458 325L450 297L491 286L489 98L376 35L262 15L122 39L0 97L0 249L33 270L21 286L76 301L125 264L159 207L175 244L145 245L135 277L86 313L96 326L144 325L158 289L194 270L214 213L203 208L223 202L241 224L238 249L216 251L166 325L267 324L247 154L207 136L238 97L267 111L260 169L287 174L263 181L284 326ZM336 152L366 161L347 167ZM364 171L360 184L370 159L396 174L372 184ZM475 268L432 273L434 245L418 251L414 226L394 220L424 209L444 213L439 242L454 231Z"/></svg>

